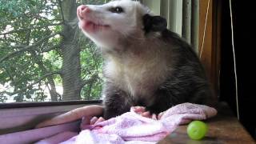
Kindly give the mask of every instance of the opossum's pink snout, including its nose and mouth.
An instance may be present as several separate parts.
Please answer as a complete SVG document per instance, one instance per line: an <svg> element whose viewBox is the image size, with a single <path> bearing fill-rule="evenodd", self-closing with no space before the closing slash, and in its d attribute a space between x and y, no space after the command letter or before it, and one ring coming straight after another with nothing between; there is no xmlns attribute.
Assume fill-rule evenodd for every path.
<svg viewBox="0 0 256 144"><path fill-rule="evenodd" d="M99 19L93 15L94 11L89 6L78 6L77 15L79 19L79 26L87 33L94 33L98 30L106 30L110 26L102 24Z"/></svg>

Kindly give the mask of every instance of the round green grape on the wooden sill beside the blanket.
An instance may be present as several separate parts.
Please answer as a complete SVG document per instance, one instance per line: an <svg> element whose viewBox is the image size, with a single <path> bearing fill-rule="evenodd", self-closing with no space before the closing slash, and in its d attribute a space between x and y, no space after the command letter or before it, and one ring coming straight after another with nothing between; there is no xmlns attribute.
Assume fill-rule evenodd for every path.
<svg viewBox="0 0 256 144"><path fill-rule="evenodd" d="M200 140L205 137L208 130L208 126L202 121L190 122L187 126L186 132L191 139Z"/></svg>

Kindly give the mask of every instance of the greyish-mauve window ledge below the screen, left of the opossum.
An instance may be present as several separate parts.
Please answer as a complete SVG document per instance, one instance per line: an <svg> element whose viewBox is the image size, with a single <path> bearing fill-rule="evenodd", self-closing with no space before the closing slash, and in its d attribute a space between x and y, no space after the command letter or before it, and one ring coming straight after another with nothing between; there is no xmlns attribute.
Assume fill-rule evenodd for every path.
<svg viewBox="0 0 256 144"><path fill-rule="evenodd" d="M58 114L88 105L100 105L102 101L71 101L42 103L10 103L0 106L0 134L33 129L39 122ZM3 105L2 105L3 106Z"/></svg>

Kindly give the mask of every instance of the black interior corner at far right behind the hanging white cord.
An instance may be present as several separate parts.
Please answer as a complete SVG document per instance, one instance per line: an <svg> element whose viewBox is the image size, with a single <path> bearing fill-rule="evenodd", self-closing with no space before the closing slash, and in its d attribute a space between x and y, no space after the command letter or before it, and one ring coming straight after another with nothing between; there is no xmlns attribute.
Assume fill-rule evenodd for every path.
<svg viewBox="0 0 256 144"><path fill-rule="evenodd" d="M250 23L255 22L255 17L250 16L252 13L248 12L250 3L239 0L232 2L240 122L242 122L242 125L251 136L256 139L256 101L253 98L254 91L250 88L253 86L252 62L254 62L250 50L254 47L250 46L250 42L252 42L250 34L255 30L254 26L250 26ZM229 4L229 1L222 1L220 101L226 101L233 113L237 114Z"/></svg>

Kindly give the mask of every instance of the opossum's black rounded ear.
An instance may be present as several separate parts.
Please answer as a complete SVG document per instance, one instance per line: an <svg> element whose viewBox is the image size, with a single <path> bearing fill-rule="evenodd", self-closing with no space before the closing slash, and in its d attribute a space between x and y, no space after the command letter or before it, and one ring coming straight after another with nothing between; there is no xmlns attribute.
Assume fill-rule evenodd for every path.
<svg viewBox="0 0 256 144"><path fill-rule="evenodd" d="M145 14L142 20L143 20L144 30L146 33L150 31L166 30L166 27L167 27L166 18Z"/></svg>

